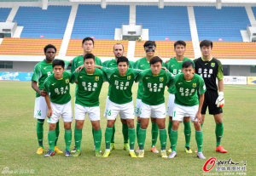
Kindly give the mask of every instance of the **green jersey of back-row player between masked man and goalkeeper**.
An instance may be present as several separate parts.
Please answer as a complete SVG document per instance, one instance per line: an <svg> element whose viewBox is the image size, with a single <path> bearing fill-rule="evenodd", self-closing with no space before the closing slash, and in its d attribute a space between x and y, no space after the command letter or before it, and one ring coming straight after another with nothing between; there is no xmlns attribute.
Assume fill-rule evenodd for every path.
<svg viewBox="0 0 256 176"><path fill-rule="evenodd" d="M188 60L189 60L188 58L184 58L183 61L177 61L176 58L174 57L166 63L166 69L168 69L168 71L172 73L172 76L175 77L177 74L182 73L183 62ZM194 64L192 60L189 60L189 61L191 61ZM168 92L170 94L175 94L175 91L176 91L175 87L168 88Z"/></svg>

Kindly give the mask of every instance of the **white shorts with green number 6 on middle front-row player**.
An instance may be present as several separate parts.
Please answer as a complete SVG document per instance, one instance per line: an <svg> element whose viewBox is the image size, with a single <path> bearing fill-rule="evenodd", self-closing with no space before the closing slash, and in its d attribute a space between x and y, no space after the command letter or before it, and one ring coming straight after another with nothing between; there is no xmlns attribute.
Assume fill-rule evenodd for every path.
<svg viewBox="0 0 256 176"><path fill-rule="evenodd" d="M116 117L120 116L121 119L134 119L134 105L133 101L119 105L113 103L110 99L108 100L108 120L115 120Z"/></svg>

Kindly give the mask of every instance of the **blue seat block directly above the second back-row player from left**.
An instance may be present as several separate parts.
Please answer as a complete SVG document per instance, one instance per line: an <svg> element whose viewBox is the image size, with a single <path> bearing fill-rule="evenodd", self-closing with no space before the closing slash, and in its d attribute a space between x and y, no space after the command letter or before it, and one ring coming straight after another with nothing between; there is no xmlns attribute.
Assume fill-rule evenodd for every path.
<svg viewBox="0 0 256 176"><path fill-rule="evenodd" d="M113 39L115 28L129 24L129 10L128 5L108 5L102 9L100 5L80 4L71 38Z"/></svg>

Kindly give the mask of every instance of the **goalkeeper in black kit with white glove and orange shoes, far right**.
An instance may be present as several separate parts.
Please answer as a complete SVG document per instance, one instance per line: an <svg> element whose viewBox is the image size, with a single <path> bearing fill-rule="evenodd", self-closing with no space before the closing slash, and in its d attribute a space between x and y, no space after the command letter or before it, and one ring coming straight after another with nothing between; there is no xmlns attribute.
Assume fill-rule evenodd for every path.
<svg viewBox="0 0 256 176"><path fill-rule="evenodd" d="M209 114L214 116L216 122L215 134L216 134L216 151L221 153L228 152L224 150L221 145L221 138L224 132L223 126L223 111L224 106L224 81L223 81L223 67L221 62L212 57L212 41L203 40L200 43L202 57L194 60L195 73L203 77L207 86L207 93L202 106L202 123L205 120L207 107ZM216 85L216 79L218 79L218 86ZM196 151L195 151L196 152Z"/></svg>

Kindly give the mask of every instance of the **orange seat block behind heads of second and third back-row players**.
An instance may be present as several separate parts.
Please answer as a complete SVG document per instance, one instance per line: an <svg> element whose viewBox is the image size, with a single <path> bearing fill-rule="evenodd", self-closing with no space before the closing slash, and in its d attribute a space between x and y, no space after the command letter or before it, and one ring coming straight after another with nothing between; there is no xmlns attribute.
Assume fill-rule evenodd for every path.
<svg viewBox="0 0 256 176"><path fill-rule="evenodd" d="M93 49L93 54L96 56L104 56L104 57L114 57L113 55L113 45L115 43L123 44L125 48L125 55L128 50L128 41L127 40L95 40L95 48ZM79 39L71 39L67 48L67 56L77 56L79 54L83 54L84 51L82 49L82 40Z"/></svg>

